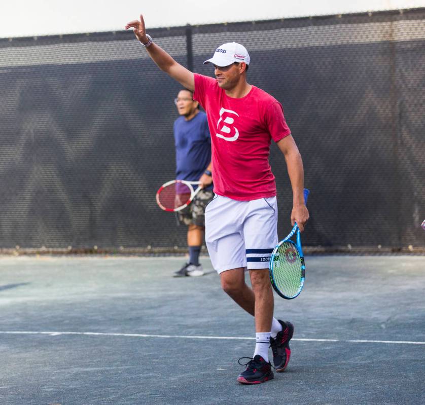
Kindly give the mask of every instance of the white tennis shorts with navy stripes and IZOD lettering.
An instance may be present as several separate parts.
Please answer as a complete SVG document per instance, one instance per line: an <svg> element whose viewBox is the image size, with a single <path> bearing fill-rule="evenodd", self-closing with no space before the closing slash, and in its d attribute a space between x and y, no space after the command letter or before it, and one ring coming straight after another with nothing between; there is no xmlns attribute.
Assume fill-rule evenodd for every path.
<svg viewBox="0 0 425 405"><path fill-rule="evenodd" d="M205 243L219 274L267 269L277 244L276 197L236 201L216 195L205 209Z"/></svg>

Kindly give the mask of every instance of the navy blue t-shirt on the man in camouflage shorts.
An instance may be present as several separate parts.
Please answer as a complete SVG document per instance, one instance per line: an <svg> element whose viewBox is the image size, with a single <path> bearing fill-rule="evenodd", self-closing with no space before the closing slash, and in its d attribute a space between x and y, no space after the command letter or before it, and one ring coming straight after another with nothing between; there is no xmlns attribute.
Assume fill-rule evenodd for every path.
<svg viewBox="0 0 425 405"><path fill-rule="evenodd" d="M200 111L191 120L180 116L174 121L175 178L198 181L211 162L211 137L206 114ZM212 185L205 188L212 190Z"/></svg>

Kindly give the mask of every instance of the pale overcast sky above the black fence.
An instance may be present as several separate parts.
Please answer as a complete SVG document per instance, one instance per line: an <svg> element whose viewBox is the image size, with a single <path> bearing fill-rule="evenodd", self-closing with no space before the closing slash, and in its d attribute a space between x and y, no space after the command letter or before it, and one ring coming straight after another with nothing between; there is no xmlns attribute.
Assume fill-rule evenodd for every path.
<svg viewBox="0 0 425 405"><path fill-rule="evenodd" d="M260 7L261 5L261 7ZM425 7L425 0L4 0L0 38Z"/></svg>

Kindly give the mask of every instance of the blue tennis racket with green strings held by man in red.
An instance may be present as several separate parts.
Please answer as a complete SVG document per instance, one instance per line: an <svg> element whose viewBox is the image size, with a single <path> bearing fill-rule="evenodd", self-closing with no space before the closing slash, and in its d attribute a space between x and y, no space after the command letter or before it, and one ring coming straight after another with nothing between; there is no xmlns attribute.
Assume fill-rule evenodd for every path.
<svg viewBox="0 0 425 405"><path fill-rule="evenodd" d="M305 203L307 203L309 193L307 189L304 189ZM297 234L296 242L291 240L295 234ZM292 300L300 294L304 285L305 264L300 229L297 223L289 235L273 249L269 275L271 285L280 297Z"/></svg>

